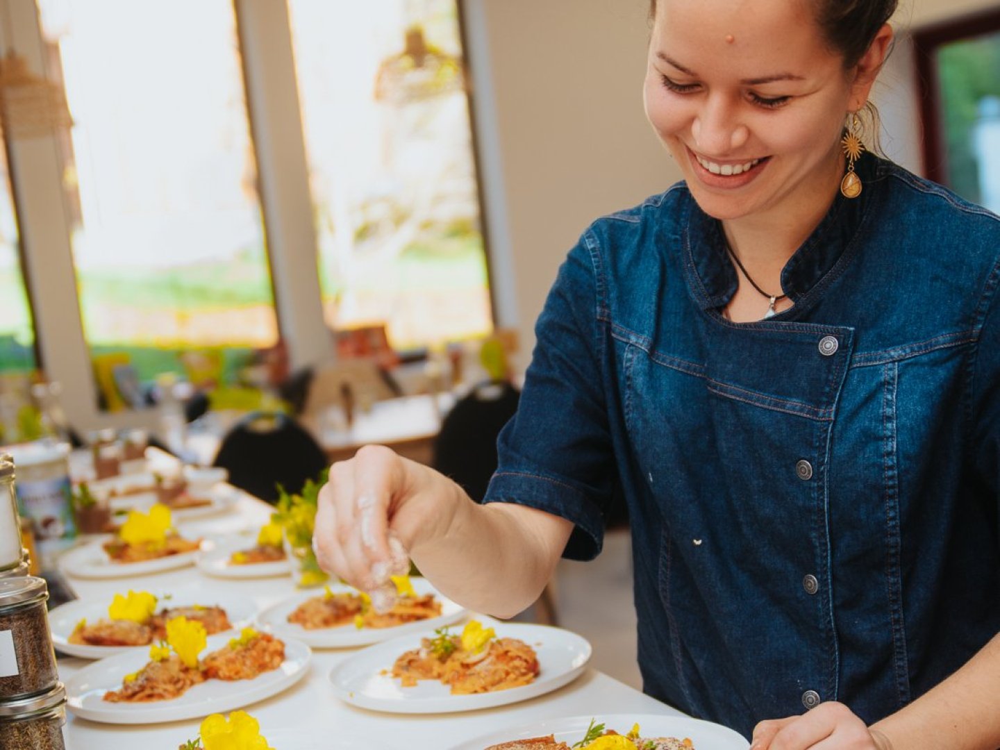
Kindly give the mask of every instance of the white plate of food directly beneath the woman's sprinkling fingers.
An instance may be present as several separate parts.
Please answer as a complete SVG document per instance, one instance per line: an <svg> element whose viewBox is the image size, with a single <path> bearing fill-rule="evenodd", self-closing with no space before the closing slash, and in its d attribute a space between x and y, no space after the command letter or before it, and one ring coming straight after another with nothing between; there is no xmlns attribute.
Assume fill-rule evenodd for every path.
<svg viewBox="0 0 1000 750"><path fill-rule="evenodd" d="M406 633L427 632L460 619L464 608L442 596L423 578L394 577L396 603L378 612L371 599L350 586L300 592L261 613L261 622L315 648L378 643Z"/></svg>

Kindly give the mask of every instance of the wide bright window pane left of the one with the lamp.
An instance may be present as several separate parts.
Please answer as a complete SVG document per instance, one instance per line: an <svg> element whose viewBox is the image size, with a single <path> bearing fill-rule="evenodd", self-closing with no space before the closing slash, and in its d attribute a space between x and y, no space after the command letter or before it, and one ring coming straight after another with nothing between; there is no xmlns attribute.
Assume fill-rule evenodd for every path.
<svg viewBox="0 0 1000 750"><path fill-rule="evenodd" d="M87 342L142 379L273 345L232 0L39 0L75 125L64 182Z"/></svg>

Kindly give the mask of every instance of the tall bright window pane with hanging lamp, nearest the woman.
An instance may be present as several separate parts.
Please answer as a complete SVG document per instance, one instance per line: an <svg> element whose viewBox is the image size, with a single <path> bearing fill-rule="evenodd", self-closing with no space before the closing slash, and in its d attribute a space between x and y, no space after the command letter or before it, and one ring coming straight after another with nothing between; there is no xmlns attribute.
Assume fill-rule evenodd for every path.
<svg viewBox="0 0 1000 750"><path fill-rule="evenodd" d="M397 348L488 333L455 0L289 10L328 324Z"/></svg>

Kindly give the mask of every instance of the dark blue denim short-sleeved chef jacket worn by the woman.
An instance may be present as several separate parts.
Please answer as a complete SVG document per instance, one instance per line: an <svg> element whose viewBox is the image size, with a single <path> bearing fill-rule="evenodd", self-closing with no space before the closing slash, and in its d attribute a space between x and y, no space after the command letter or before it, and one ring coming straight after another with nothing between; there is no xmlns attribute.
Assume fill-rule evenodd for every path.
<svg viewBox="0 0 1000 750"><path fill-rule="evenodd" d="M573 521L578 559L627 503L645 691L747 736L878 720L1000 631L1000 219L858 170L757 323L720 314L737 277L683 183L595 222L487 495Z"/></svg>

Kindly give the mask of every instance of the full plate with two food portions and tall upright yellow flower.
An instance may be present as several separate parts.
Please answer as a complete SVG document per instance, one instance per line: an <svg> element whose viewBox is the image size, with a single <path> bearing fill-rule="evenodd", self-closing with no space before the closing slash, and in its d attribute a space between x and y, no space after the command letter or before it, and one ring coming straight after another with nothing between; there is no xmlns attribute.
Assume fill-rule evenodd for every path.
<svg viewBox="0 0 1000 750"><path fill-rule="evenodd" d="M301 679L305 644L245 628L207 636L185 617L167 622L167 638L148 651L102 659L66 681L69 710L82 718L145 724L242 708Z"/></svg>

